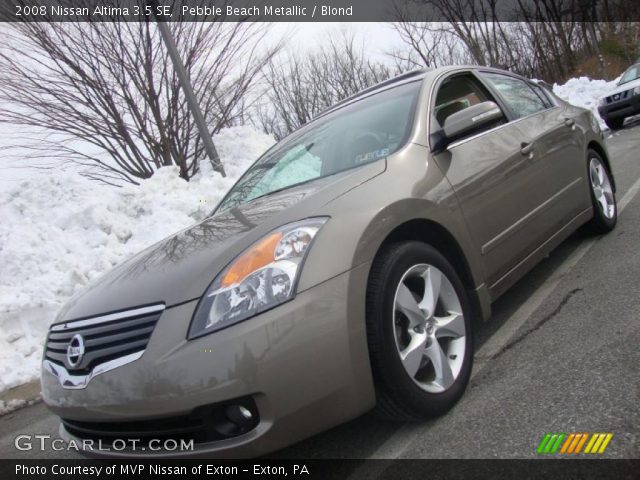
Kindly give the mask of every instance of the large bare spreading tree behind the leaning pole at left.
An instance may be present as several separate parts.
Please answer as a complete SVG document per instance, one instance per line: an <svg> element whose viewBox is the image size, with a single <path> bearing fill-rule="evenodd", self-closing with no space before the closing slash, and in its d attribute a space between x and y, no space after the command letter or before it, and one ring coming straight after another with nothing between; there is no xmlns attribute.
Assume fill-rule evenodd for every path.
<svg viewBox="0 0 640 480"><path fill-rule="evenodd" d="M170 28L211 134L237 123L280 46L256 48L266 27L255 23ZM199 171L203 142L154 23L31 22L5 30L0 123L49 134L21 148L21 158L64 158L113 184L137 183L162 166L176 165L186 180Z"/></svg>

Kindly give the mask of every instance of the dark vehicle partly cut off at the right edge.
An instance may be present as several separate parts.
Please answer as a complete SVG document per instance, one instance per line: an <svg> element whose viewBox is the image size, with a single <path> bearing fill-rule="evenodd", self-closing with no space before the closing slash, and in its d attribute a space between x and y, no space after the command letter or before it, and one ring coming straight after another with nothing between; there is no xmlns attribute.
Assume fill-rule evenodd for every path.
<svg viewBox="0 0 640 480"><path fill-rule="evenodd" d="M629 67L617 87L598 100L598 112L611 130L622 128L625 118L640 114L640 63Z"/></svg>

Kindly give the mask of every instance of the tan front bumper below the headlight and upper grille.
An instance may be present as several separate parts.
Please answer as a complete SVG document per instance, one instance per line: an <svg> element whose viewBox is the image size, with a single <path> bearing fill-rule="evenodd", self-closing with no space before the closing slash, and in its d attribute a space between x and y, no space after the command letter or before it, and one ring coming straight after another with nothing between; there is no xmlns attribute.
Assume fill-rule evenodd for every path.
<svg viewBox="0 0 640 480"><path fill-rule="evenodd" d="M255 318L187 341L196 301L165 310L144 354L66 389L43 370L47 406L75 422L118 423L189 415L249 397L260 421L242 435L196 443L191 452L93 451L103 456L253 457L354 418L375 403L365 331L370 264ZM80 443L64 427L67 440Z"/></svg>

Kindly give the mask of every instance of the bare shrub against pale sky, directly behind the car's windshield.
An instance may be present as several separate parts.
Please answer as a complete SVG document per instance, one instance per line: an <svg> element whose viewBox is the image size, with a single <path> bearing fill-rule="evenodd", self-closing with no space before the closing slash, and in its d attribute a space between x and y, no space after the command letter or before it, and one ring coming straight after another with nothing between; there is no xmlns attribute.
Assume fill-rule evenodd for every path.
<svg viewBox="0 0 640 480"><path fill-rule="evenodd" d="M256 123L282 138L316 114L391 77L393 69L367 59L353 35L343 33L318 50L288 51L273 59L265 72L263 101L256 104Z"/></svg>

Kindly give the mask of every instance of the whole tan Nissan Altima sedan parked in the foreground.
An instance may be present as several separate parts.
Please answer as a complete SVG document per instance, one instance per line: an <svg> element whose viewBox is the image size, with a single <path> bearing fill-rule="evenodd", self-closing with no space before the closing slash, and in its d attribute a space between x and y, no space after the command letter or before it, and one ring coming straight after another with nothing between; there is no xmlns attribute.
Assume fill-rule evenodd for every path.
<svg viewBox="0 0 640 480"><path fill-rule="evenodd" d="M277 143L207 219L70 301L43 398L65 438L111 456L179 453L106 449L129 438L256 456L372 408L441 415L491 302L616 218L588 110L500 70L408 73Z"/></svg>

